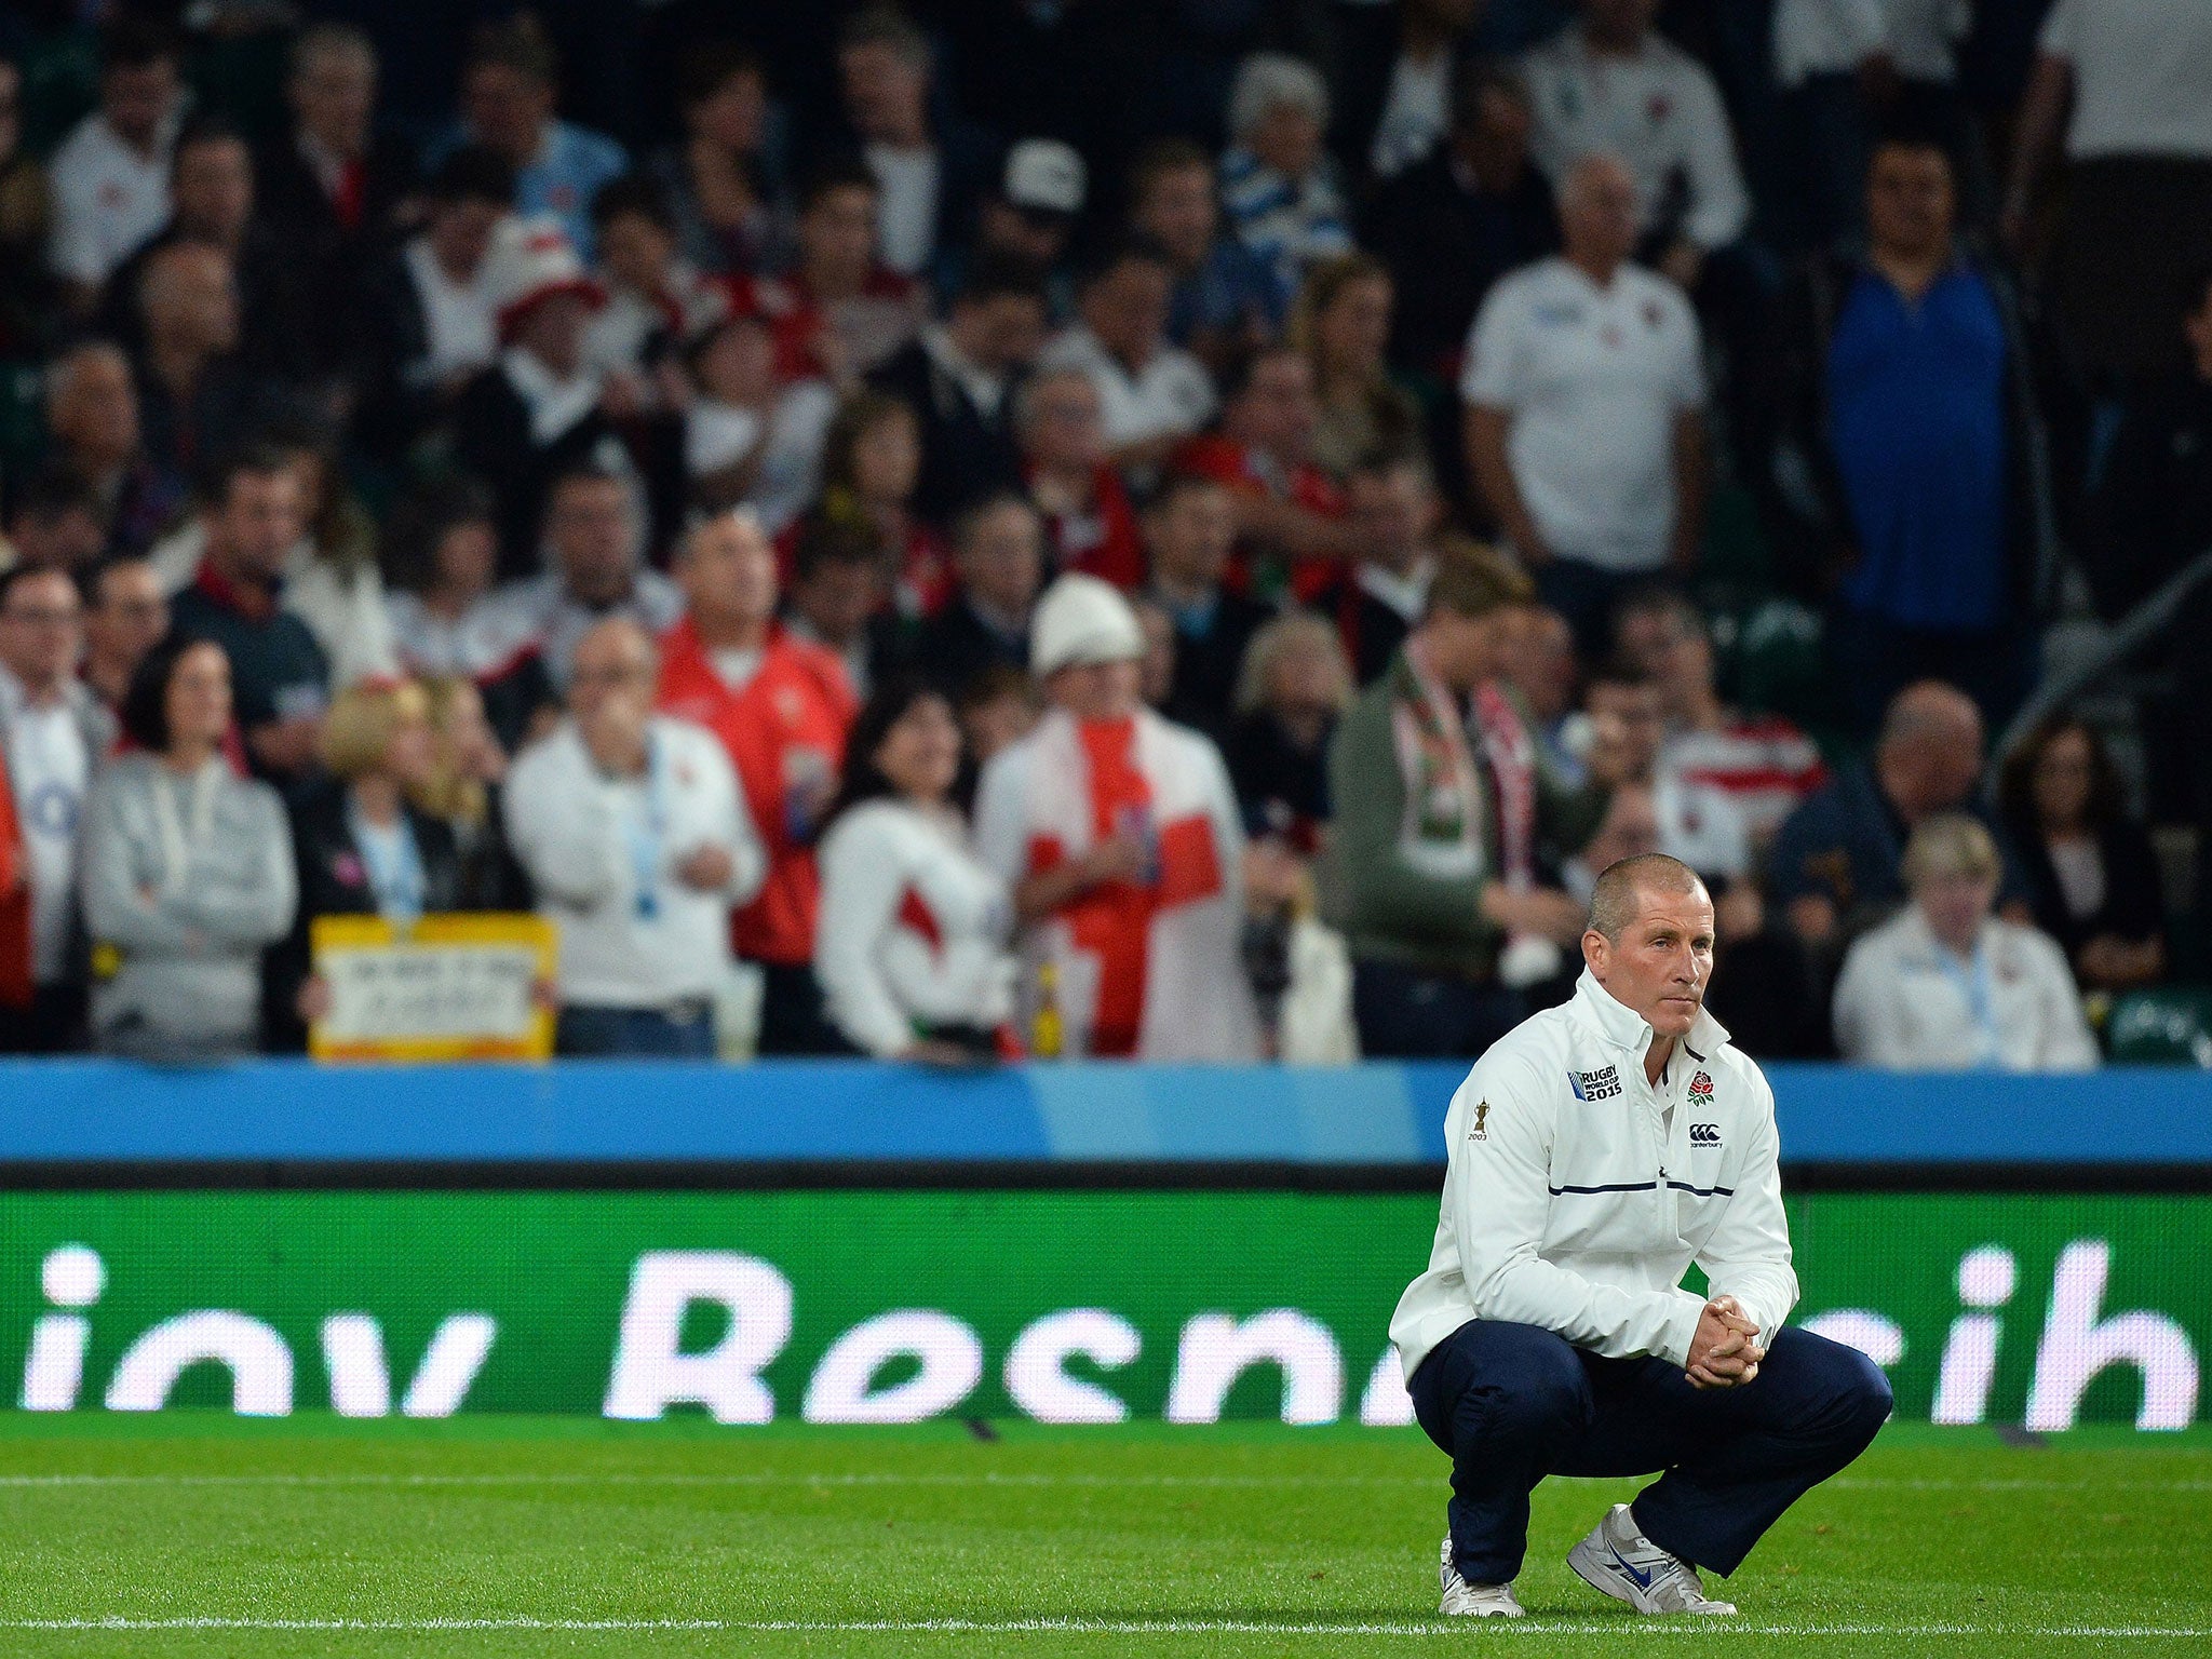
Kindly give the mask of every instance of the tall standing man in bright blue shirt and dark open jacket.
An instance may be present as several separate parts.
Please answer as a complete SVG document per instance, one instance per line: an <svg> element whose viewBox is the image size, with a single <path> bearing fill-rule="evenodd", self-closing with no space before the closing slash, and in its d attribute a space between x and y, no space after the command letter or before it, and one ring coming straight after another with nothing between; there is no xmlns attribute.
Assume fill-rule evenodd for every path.
<svg viewBox="0 0 2212 1659"><path fill-rule="evenodd" d="M1792 325L1787 403L1840 568L1836 679L1869 728L1938 672L2002 721L2031 675L2013 599L2033 562L2031 376L2011 292L1955 219L1944 153L1887 139L1865 261L1818 263Z"/></svg>

